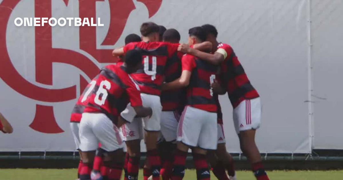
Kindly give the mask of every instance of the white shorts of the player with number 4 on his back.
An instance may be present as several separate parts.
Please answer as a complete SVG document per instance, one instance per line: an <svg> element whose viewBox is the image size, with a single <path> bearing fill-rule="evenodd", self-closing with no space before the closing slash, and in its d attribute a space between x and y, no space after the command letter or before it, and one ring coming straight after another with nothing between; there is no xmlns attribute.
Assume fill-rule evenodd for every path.
<svg viewBox="0 0 343 180"><path fill-rule="evenodd" d="M135 123L134 121L140 119L144 122L144 129L145 131L160 131L161 130L161 112L162 112L162 105L159 96L144 94L141 93L141 98L143 102L143 106L151 107L152 109L152 116L151 118L134 118L136 116L136 112L131 107L129 103L124 111L120 113L120 116L125 120L131 122L127 124L127 127L130 131L140 130L139 127L133 127L137 125L142 125L141 123ZM134 132L138 134L139 132Z"/></svg>

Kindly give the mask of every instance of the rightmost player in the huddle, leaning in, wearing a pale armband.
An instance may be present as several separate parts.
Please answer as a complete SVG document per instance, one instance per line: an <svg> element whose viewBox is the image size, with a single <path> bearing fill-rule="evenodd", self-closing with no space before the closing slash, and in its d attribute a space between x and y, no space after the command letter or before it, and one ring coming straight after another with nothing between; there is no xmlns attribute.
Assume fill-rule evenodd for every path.
<svg viewBox="0 0 343 180"><path fill-rule="evenodd" d="M187 45L180 45L180 50L197 56L212 64L221 65L221 85L213 83L218 94L227 92L233 110L235 130L239 137L240 148L249 159L252 171L258 180L269 180L262 165L261 155L255 143L255 133L261 124L261 102L256 89L251 85L242 65L228 44L218 43L217 29L210 24L202 26L207 40L213 44L214 54L191 49ZM222 88L223 87L223 88Z"/></svg>

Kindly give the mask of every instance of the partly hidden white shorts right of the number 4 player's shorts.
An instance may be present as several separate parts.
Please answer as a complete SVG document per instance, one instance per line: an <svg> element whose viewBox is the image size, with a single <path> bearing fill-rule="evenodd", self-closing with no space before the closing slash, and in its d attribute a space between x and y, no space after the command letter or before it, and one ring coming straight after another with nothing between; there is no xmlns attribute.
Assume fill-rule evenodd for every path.
<svg viewBox="0 0 343 180"><path fill-rule="evenodd" d="M177 127L180 114L177 111L162 111L161 113L161 139L172 142L176 140Z"/></svg>

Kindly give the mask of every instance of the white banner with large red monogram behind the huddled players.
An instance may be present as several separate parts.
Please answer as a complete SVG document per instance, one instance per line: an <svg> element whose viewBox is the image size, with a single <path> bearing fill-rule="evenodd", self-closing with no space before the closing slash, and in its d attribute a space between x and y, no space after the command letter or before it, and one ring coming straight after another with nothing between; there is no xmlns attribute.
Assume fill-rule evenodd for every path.
<svg viewBox="0 0 343 180"><path fill-rule="evenodd" d="M328 44L326 48L335 53L334 57L323 50L312 56L315 62L325 59L325 63L319 63L338 72L342 69L342 52L336 38L342 39L339 31L342 21L335 31L331 25L336 23L334 20L340 20L343 11L342 3L336 1L336 4L331 3L339 7L329 16L332 21L326 19L330 12L323 14L324 17L318 12L316 18L326 25L322 27L317 22L317 34L314 34L318 41ZM11 122L14 132L0 135L0 151L74 151L69 118L80 89L100 67L113 62L111 49L122 46L126 35L140 34L141 23L153 21L176 28L184 43L189 28L206 23L215 25L218 40L232 45L252 85L261 95L262 126L256 137L260 152L309 153L308 5L308 0L201 3L192 0L2 0L0 112ZM100 17L104 27L17 27L14 24L16 17ZM325 38L322 33L326 33ZM337 43L332 45L331 40ZM314 47L313 50L316 48L320 49ZM341 68L326 63L329 60ZM315 78L317 76L329 78L332 74L315 69ZM320 82L316 84L317 81ZM342 98L334 100L337 97L334 93L339 94L339 88L331 92L330 80L314 82L321 91L318 96L325 94L328 99L332 98L327 101L330 106L323 103L317 107L315 104L319 111L316 120L322 117L324 122L328 122L326 119L338 121L339 114L335 114L336 119L326 117L332 115L330 107L342 102ZM340 81L335 82L335 86L340 85ZM220 100L228 151L240 152L232 122L232 106L226 95ZM323 125L330 126L324 122ZM332 132L330 128L319 131L321 134ZM342 137L342 132L332 133L333 136L339 134ZM339 137L335 138L337 141L320 141L318 146L338 147L334 142L338 142Z"/></svg>

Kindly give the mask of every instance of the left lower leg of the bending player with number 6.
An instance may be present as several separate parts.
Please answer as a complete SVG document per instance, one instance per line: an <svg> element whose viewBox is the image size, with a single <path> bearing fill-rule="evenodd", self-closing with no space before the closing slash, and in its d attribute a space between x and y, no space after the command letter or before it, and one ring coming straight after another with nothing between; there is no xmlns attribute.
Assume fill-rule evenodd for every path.
<svg viewBox="0 0 343 180"><path fill-rule="evenodd" d="M81 151L81 157L83 166L80 171L80 180L89 180L91 179L91 172L93 169L93 160L95 157L95 151Z"/></svg>

